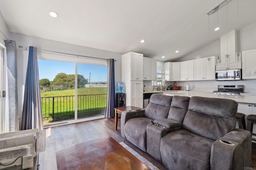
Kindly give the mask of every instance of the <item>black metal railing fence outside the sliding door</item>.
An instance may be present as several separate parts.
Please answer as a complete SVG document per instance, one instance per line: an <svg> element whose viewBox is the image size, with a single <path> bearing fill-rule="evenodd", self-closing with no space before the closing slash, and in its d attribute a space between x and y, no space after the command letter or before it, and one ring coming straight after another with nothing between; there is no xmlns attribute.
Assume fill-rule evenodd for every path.
<svg viewBox="0 0 256 170"><path fill-rule="evenodd" d="M106 109L107 94L78 95L78 117ZM43 118L75 114L75 96L41 97Z"/></svg>

